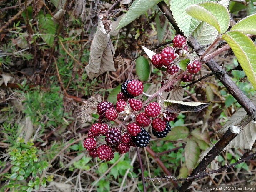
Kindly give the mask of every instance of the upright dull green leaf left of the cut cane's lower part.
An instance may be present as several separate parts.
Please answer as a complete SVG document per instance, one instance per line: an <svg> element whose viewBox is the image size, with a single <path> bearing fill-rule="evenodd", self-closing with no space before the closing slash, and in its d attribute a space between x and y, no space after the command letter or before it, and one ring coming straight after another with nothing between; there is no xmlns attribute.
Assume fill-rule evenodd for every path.
<svg viewBox="0 0 256 192"><path fill-rule="evenodd" d="M195 168L197 161L199 160L200 148L197 145L197 142L189 139L185 148L185 158L186 158L186 166L188 168L189 173Z"/></svg>

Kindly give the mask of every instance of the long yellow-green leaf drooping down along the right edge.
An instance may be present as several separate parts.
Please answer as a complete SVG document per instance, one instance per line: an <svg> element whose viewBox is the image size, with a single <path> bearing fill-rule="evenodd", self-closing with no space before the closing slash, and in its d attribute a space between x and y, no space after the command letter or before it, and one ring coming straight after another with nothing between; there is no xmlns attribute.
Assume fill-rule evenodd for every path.
<svg viewBox="0 0 256 192"><path fill-rule="evenodd" d="M256 45L245 34L229 31L222 35L234 52L249 81L256 90Z"/></svg>

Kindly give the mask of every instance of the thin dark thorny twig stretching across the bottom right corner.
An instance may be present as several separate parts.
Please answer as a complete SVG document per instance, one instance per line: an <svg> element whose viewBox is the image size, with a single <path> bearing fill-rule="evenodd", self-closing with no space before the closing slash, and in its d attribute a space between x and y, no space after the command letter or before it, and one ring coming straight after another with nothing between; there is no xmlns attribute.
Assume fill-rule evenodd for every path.
<svg viewBox="0 0 256 192"><path fill-rule="evenodd" d="M187 178L179 178L179 179L176 179L174 176L170 176L170 175L167 175L167 176L164 176L164 177L145 177L146 179L148 180L171 180L171 181L186 181L186 180L189 180L189 179L196 179L196 178L200 178L200 177L204 177L204 176L210 176L211 174L214 174L214 173L218 173L220 171L226 171L227 169L229 168L233 168L235 167L236 165L240 164L240 163L244 163L245 161L249 161L250 159L253 159L256 157L256 151L255 153L245 157L245 158L242 158L242 159L239 159L237 160L237 162L235 163L232 163L230 165L226 165L225 167L222 167L220 169L216 169L216 170L213 170L213 171L209 171L209 172L205 172L205 173L202 173L202 174L198 174L198 175L195 175L195 176L190 176L190 177L187 177Z"/></svg>

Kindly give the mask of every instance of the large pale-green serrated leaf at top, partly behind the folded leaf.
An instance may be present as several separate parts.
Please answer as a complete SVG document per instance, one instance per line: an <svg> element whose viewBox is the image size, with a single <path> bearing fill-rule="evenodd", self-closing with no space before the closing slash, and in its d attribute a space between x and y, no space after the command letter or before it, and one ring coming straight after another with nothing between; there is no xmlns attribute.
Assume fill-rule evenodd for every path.
<svg viewBox="0 0 256 192"><path fill-rule="evenodd" d="M193 1L179 1L179 0L170 0L170 9L172 11L172 15L184 33L184 35L188 38L195 28L200 24L199 19L195 19L189 14L186 13L187 7L193 4L204 2L205 0L193 0Z"/></svg>

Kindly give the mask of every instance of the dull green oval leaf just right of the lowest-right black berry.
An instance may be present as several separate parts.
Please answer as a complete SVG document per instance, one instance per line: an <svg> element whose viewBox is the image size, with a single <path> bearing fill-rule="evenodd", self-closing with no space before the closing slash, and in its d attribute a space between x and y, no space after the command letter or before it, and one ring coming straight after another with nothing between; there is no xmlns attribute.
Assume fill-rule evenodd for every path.
<svg viewBox="0 0 256 192"><path fill-rule="evenodd" d="M168 133L164 140L178 140L184 139L189 136L189 130L187 127L184 126L177 126L173 127L172 130Z"/></svg>

